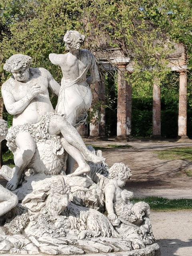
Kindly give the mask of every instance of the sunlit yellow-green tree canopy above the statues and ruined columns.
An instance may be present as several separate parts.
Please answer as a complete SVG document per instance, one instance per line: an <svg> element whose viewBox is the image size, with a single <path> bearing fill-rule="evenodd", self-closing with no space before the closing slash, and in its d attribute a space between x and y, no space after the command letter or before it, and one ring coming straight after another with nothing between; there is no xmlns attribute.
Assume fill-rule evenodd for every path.
<svg viewBox="0 0 192 256"><path fill-rule="evenodd" d="M191 11L190 0L2 0L2 81L7 76L2 65L18 52L32 56L34 66L47 68L60 80L60 69L50 63L48 54L64 53L66 30L78 30L86 35L85 48L91 51L102 50L98 39L104 35L125 56L133 52L132 84L148 86L154 76L163 80L169 72L166 62L173 51L171 42L187 44L191 56Z"/></svg>

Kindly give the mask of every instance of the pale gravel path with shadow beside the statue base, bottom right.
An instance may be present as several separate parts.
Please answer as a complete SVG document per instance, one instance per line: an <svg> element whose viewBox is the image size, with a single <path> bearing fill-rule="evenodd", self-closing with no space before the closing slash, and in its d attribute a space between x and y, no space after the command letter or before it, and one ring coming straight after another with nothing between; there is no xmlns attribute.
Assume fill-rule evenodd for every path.
<svg viewBox="0 0 192 256"><path fill-rule="evenodd" d="M192 211L151 212L150 219L162 256L192 255Z"/></svg>

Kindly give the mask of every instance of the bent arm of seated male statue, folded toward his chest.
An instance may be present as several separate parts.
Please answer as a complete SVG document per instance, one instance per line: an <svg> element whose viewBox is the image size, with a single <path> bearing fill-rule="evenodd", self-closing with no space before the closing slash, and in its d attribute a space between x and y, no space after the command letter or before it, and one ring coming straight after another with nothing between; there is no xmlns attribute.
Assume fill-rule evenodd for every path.
<svg viewBox="0 0 192 256"><path fill-rule="evenodd" d="M30 101L34 98L32 94L26 94L20 100L15 101L12 92L10 91L8 86L4 86L4 84L2 85L1 92L6 110L11 115L20 114L21 112L23 112L30 103Z"/></svg>

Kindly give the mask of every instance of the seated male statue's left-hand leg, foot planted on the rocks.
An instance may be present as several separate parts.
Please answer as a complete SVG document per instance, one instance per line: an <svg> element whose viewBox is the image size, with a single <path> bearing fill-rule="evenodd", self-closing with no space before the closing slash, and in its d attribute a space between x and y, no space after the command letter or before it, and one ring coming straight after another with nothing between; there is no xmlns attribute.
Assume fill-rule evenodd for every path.
<svg viewBox="0 0 192 256"><path fill-rule="evenodd" d="M15 190L22 178L24 168L32 159L36 143L32 136L27 132L20 132L15 139L17 150L14 154L15 172L10 181L7 182L6 188Z"/></svg>

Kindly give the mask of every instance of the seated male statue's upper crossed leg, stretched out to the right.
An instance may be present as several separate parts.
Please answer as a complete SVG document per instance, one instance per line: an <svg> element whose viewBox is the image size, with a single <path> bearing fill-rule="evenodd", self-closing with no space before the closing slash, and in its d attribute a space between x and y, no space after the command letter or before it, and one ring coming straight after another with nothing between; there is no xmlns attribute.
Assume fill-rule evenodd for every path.
<svg viewBox="0 0 192 256"><path fill-rule="evenodd" d="M51 135L62 133L65 140L77 148L88 162L101 163L105 160L90 152L85 146L77 130L62 116L53 116L50 120L49 132ZM72 156L73 157L73 156Z"/></svg>

